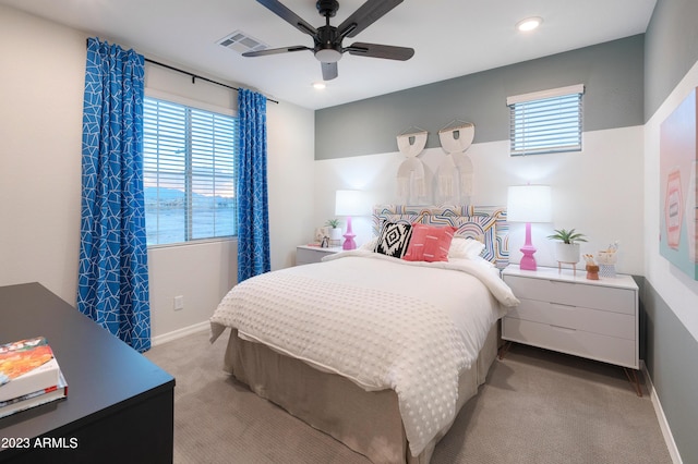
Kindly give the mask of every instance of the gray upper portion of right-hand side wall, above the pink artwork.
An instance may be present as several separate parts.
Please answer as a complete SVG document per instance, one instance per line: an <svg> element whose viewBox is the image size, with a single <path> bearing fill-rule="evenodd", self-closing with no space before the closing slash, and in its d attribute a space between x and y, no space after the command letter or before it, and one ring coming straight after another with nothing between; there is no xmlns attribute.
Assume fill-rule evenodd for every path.
<svg viewBox="0 0 698 464"><path fill-rule="evenodd" d="M645 122L698 61L696 21L696 0L657 2L645 47Z"/></svg>

